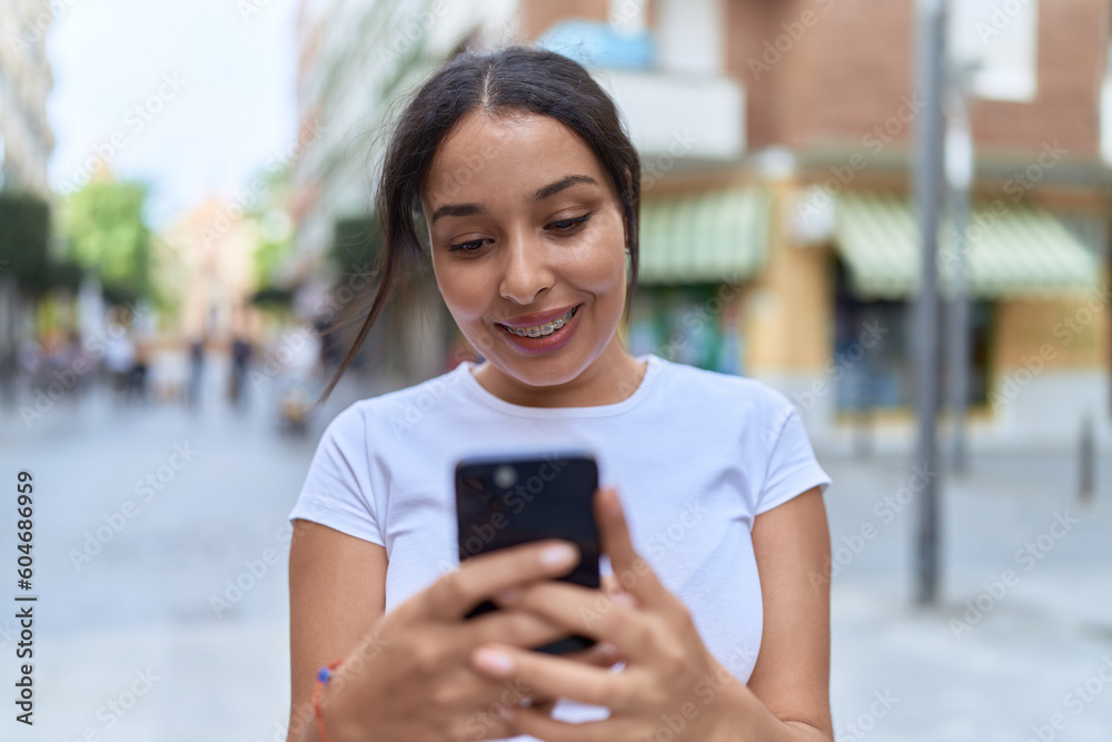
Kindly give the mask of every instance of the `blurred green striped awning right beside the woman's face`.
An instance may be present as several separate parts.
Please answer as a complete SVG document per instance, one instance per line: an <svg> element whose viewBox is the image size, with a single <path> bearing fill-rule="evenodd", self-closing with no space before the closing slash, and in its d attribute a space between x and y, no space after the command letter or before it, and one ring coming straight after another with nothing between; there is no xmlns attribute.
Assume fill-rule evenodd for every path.
<svg viewBox="0 0 1112 742"><path fill-rule="evenodd" d="M641 204L638 284L736 283L763 266L772 194L745 187Z"/></svg>

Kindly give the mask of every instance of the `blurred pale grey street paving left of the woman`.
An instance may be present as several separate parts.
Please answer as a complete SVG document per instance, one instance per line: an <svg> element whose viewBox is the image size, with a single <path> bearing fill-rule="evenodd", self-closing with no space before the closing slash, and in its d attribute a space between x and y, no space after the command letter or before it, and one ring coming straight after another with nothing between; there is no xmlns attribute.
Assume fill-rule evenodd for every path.
<svg viewBox="0 0 1112 742"><path fill-rule="evenodd" d="M113 405L92 389L30 429L0 416L0 471L34 475L39 596L34 728L6 714L0 739L286 739L286 514L322 425L353 397L346 379L295 437L280 434L266 382L235 410L226 377L227 359L212 357L196 414ZM0 553L14 571L14 497L8 505ZM9 606L16 592L12 576ZM0 620L8 687L13 614Z"/></svg>

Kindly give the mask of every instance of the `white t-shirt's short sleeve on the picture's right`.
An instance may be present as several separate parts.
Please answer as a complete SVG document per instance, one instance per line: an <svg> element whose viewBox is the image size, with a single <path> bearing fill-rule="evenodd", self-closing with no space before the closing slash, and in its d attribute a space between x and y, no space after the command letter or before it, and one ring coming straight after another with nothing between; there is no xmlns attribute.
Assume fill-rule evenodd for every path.
<svg viewBox="0 0 1112 742"><path fill-rule="evenodd" d="M775 422L765 428L771 432L765 438L768 444L767 469L754 515L783 505L812 487L820 487L825 494L831 485L831 477L818 465L794 405L780 394L774 397L778 400L778 409Z"/></svg>

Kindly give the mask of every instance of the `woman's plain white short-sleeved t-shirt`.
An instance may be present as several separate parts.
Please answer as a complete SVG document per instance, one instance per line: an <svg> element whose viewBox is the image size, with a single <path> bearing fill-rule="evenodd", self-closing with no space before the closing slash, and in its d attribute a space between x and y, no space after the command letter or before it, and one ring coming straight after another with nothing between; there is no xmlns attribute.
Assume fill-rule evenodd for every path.
<svg viewBox="0 0 1112 742"><path fill-rule="evenodd" d="M459 564L459 458L587 447L599 483L617 489L634 547L688 606L707 649L746 682L762 631L753 521L812 487L825 493L831 479L778 392L653 354L638 359L648 362L641 385L610 405L510 404L478 383L471 362L357 402L325 431L289 517L385 546L390 611ZM610 573L606 560L602 571ZM566 699L553 712L564 721L607 714Z"/></svg>

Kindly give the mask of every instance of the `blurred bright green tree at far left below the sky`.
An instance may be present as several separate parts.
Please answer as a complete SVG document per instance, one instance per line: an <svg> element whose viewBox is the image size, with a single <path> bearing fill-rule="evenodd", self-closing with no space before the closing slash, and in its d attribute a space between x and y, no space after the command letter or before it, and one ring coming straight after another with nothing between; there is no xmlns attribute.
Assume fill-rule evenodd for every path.
<svg viewBox="0 0 1112 742"><path fill-rule="evenodd" d="M66 198L60 231L68 257L96 271L115 300L151 296L151 235L142 217L147 186L96 180Z"/></svg>

